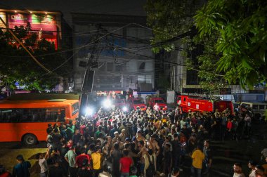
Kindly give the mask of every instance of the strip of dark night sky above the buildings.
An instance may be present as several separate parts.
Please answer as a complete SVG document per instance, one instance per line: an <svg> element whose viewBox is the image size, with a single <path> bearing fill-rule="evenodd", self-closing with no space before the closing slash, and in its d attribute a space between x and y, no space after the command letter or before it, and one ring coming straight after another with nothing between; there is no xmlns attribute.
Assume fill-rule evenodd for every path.
<svg viewBox="0 0 267 177"><path fill-rule="evenodd" d="M145 0L0 0L0 8L28 11L61 11L71 22L70 13L98 13L145 16Z"/></svg>

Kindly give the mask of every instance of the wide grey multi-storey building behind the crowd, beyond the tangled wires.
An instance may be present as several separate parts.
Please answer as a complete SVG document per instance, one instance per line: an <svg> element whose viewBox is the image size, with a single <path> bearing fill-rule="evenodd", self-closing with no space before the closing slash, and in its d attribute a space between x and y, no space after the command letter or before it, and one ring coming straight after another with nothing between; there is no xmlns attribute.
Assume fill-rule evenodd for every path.
<svg viewBox="0 0 267 177"><path fill-rule="evenodd" d="M152 32L145 23L145 16L72 13L74 89L84 79L79 63L89 60L98 63L94 91L154 89Z"/></svg>

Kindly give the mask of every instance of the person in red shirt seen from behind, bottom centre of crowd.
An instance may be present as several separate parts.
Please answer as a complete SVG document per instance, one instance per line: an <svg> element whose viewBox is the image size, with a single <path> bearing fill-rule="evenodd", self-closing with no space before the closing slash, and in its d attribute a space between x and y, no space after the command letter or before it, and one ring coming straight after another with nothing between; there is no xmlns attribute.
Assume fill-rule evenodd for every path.
<svg viewBox="0 0 267 177"><path fill-rule="evenodd" d="M130 176L130 167L133 165L133 160L129 157L129 150L123 150L124 157L119 159L119 169L121 177Z"/></svg>

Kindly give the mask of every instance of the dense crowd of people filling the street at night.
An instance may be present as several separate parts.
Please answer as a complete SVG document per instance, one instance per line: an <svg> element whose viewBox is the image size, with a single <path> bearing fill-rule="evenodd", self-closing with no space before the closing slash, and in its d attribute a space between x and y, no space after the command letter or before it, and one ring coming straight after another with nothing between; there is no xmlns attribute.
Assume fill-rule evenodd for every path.
<svg viewBox="0 0 267 177"><path fill-rule="evenodd" d="M48 124L47 152L37 158L41 176L49 177L180 176L185 157L192 162L188 176L210 176L209 140L240 140L249 136L251 122L249 114L229 110L184 114L178 107L131 112L100 108L75 124ZM17 160L25 163L22 155ZM249 164L254 176L264 177L262 166ZM14 167L15 176L25 174L21 167ZM244 176L238 163L233 171L234 177Z"/></svg>

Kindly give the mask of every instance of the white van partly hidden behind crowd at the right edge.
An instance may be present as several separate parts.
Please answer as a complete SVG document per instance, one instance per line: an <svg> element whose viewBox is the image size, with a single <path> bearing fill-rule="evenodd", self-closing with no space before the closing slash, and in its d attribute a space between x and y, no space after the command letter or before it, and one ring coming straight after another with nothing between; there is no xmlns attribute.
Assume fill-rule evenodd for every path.
<svg viewBox="0 0 267 177"><path fill-rule="evenodd" d="M254 117L256 119L264 119L264 113L267 109L267 103L249 103L249 102L241 102L240 103L241 110L247 111L252 110Z"/></svg>

